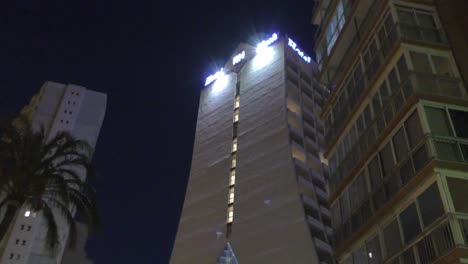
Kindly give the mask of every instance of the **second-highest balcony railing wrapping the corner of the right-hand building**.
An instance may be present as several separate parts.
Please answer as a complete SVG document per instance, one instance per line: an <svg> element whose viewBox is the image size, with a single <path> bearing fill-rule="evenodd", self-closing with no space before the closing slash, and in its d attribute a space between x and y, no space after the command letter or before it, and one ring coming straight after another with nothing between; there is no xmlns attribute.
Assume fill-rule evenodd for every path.
<svg viewBox="0 0 468 264"><path fill-rule="evenodd" d="M406 79L400 83L398 90L393 91L387 104L380 111L374 109L374 118L371 124L355 141L355 144L350 148L336 171L332 172L330 179L331 192L335 191L341 180L348 176L349 172L360 163L360 158L366 157L365 154L369 154L369 146L376 142L385 127L390 124L408 98L414 94L468 98L462 82L458 78L408 72Z"/></svg>

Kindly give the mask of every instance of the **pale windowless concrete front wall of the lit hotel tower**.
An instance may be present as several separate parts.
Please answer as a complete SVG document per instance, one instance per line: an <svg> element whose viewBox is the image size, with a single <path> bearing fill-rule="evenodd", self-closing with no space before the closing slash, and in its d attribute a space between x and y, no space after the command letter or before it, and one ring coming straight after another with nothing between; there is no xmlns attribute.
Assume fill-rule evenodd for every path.
<svg viewBox="0 0 468 264"><path fill-rule="evenodd" d="M289 80L301 82L302 72L310 81L312 67L285 38L274 42L264 56L241 44L233 57L242 51L246 58L239 65L232 66L229 60L225 66L227 84L219 88L215 82L201 92L191 173L170 263L224 263L219 258L227 242L239 263L319 263L301 193L304 186L315 193L315 187L311 181L304 185L298 180L293 153L298 150L292 148L297 143L291 139L288 121L288 95L301 94L299 85L293 87ZM295 65L297 76L288 75L286 61ZM310 82L301 89L313 93ZM304 107L299 98L296 111ZM238 122L233 121L236 109ZM300 113L295 118L303 133ZM307 174L311 169L307 164L313 162L307 163L305 157L311 151L305 146L300 151ZM320 162L314 167L323 175ZM233 168L235 184L229 177ZM316 197L311 200L320 210ZM232 222L227 220L228 205L234 208Z"/></svg>

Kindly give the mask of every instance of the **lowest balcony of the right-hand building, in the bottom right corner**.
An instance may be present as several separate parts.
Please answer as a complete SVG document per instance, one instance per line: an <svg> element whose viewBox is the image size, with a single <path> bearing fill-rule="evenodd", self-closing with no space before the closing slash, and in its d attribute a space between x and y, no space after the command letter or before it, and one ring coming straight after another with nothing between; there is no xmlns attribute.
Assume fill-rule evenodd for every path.
<svg viewBox="0 0 468 264"><path fill-rule="evenodd" d="M447 214L386 263L460 263L468 257L468 216Z"/></svg>

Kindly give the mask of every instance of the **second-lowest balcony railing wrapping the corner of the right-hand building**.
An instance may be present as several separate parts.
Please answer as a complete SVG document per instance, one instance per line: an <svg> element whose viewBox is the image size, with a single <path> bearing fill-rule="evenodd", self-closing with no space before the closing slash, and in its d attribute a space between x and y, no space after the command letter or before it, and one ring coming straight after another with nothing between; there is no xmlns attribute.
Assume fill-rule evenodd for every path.
<svg viewBox="0 0 468 264"><path fill-rule="evenodd" d="M468 140L455 137L440 137L426 134L391 172L385 176L373 192L348 219L344 219L336 231L337 246L349 240L353 233L362 228L380 209L390 202L432 160L453 161L468 164ZM467 231L468 231L468 226ZM468 233L466 233L468 234ZM423 262L426 263L426 262Z"/></svg>

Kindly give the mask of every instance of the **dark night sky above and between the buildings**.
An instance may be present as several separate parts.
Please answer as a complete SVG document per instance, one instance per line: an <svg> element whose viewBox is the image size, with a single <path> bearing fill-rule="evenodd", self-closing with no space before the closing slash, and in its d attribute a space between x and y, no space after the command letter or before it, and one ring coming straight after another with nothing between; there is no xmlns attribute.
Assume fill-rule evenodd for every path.
<svg viewBox="0 0 468 264"><path fill-rule="evenodd" d="M108 94L94 183L103 231L97 264L168 263L190 170L199 91L256 33L312 49L312 0L2 1L0 114L42 83Z"/></svg>

